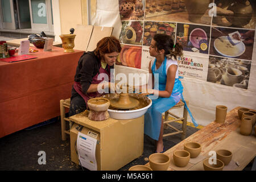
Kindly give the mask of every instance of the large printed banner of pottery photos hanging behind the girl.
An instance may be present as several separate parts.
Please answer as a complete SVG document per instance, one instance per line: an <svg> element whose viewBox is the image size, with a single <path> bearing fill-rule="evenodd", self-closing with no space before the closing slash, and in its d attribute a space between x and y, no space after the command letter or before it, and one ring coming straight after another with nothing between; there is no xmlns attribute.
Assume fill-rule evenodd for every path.
<svg viewBox="0 0 256 182"><path fill-rule="evenodd" d="M177 60L180 76L247 89L256 1L119 0L119 12L123 48L118 65L148 71L154 60L148 52L152 38L168 34L183 45L184 55ZM239 78L229 81L230 74Z"/></svg>

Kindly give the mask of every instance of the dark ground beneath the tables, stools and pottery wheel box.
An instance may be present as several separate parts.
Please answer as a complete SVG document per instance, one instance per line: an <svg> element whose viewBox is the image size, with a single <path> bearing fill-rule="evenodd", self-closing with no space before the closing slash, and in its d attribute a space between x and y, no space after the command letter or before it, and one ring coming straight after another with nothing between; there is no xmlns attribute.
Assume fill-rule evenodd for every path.
<svg viewBox="0 0 256 182"><path fill-rule="evenodd" d="M181 129L180 123L172 123ZM169 129L171 130L171 129ZM187 127L187 137L199 129ZM165 132L167 130L164 130ZM68 137L69 138L69 137ZM181 141L181 134L164 138L166 150ZM71 162L69 139L61 140L61 127L58 118L48 121L47 125L35 129L24 129L0 139L0 170L31 170L31 171L81 171L82 168ZM39 165L39 151L46 152L46 164ZM142 156L133 160L121 171L128 170L136 164L148 163L148 156L154 153L154 140L144 135L144 151ZM86 170L84 168L84 170Z"/></svg>

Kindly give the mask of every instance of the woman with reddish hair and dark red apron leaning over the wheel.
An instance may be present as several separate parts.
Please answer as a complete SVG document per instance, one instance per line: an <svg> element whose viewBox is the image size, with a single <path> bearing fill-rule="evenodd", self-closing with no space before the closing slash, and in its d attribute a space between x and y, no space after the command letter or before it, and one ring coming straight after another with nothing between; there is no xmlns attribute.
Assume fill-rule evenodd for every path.
<svg viewBox="0 0 256 182"><path fill-rule="evenodd" d="M104 94L99 93L98 88L115 90L114 84L110 84L110 69L114 68L120 51L119 40L111 36L101 39L94 51L84 52L80 57L71 92L69 116L81 113L85 109L89 110L87 101ZM100 73L108 75L108 81L105 81L104 78L98 80Z"/></svg>

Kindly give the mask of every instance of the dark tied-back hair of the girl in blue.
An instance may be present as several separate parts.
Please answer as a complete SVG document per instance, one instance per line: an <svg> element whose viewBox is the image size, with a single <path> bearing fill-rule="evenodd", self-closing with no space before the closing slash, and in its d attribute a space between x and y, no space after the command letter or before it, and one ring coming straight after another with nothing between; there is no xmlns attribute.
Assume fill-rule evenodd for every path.
<svg viewBox="0 0 256 182"><path fill-rule="evenodd" d="M164 56L170 58L174 56L177 59L177 56L182 55L183 47L179 43L174 46L174 40L170 35L155 34L153 39L155 40L156 51L164 49Z"/></svg>

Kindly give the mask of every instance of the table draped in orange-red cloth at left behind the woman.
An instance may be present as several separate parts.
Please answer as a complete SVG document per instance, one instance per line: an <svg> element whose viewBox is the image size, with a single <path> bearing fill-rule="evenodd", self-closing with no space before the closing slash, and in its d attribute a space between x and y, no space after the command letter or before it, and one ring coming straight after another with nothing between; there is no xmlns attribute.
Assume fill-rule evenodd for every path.
<svg viewBox="0 0 256 182"><path fill-rule="evenodd" d="M0 138L59 116L60 100L71 97L77 62L84 51L38 50L30 53L36 59L0 61Z"/></svg>

